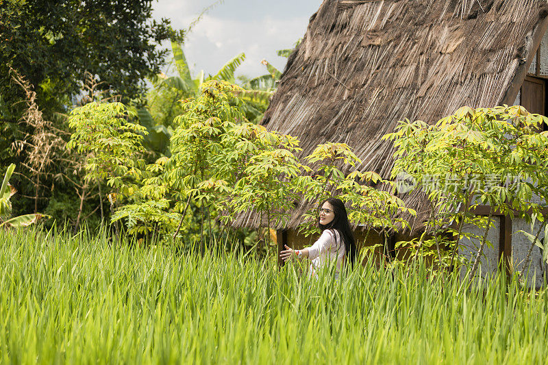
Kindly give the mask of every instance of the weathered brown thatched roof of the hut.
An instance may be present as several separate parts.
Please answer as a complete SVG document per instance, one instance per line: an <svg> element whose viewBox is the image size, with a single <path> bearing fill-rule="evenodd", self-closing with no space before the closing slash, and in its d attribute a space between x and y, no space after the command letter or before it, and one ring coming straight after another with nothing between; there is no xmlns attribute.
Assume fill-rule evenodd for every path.
<svg viewBox="0 0 548 365"><path fill-rule="evenodd" d="M301 157L345 142L361 171L388 178L393 149L381 137L398 121L436 123L462 105L514 102L547 15L541 0L325 0L262 124L297 136ZM419 209L417 222L427 218L419 192L404 201ZM306 209L297 207L286 227L297 227ZM250 212L236 225L258 219Z"/></svg>

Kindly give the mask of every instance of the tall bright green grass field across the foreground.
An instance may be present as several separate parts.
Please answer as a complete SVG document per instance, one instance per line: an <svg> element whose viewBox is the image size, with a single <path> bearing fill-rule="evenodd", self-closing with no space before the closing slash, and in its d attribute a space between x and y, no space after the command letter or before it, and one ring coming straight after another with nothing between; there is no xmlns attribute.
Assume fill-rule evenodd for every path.
<svg viewBox="0 0 548 365"><path fill-rule="evenodd" d="M0 231L2 363L545 363L546 292Z"/></svg>

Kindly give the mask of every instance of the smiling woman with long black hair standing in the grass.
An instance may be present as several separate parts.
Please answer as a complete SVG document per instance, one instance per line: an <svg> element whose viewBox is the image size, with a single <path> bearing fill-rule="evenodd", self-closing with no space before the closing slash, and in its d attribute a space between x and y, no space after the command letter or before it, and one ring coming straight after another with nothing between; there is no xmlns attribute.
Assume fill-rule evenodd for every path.
<svg viewBox="0 0 548 365"><path fill-rule="evenodd" d="M356 241L350 228L345 204L338 198L329 198L321 206L318 227L322 234L312 247L302 250L293 250L285 245L286 250L280 253L282 260L291 257L308 258L311 275L331 260L336 260L336 274L338 277L345 257L353 265L356 260Z"/></svg>

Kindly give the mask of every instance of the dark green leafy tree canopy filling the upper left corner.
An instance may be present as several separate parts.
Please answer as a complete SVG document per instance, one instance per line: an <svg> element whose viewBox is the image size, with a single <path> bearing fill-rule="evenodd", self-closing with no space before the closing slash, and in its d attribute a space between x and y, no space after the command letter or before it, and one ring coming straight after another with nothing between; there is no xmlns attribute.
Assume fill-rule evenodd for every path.
<svg viewBox="0 0 548 365"><path fill-rule="evenodd" d="M21 99L10 66L40 91L75 95L84 71L124 99L142 91L164 64L162 40L182 40L167 19L150 21L152 0L0 0L0 95ZM38 86L42 90L38 90Z"/></svg>

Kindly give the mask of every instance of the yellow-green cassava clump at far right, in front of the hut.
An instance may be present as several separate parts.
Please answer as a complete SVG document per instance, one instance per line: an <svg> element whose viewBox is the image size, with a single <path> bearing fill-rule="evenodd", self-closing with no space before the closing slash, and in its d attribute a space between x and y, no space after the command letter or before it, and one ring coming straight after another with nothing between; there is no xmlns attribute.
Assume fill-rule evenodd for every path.
<svg viewBox="0 0 548 365"><path fill-rule="evenodd" d="M395 133L384 137L393 140L397 150L393 176L410 175L428 194L432 203L428 233L436 237L444 231L456 237L440 267L451 267L462 238L472 238L464 233L464 225L484 229L481 237L475 237L480 244L471 263L472 279L489 244L494 212L544 221L548 138L539 130L546 121L519 105L463 107L435 125L400 122ZM478 204L490 206L487 217L471 214Z"/></svg>

